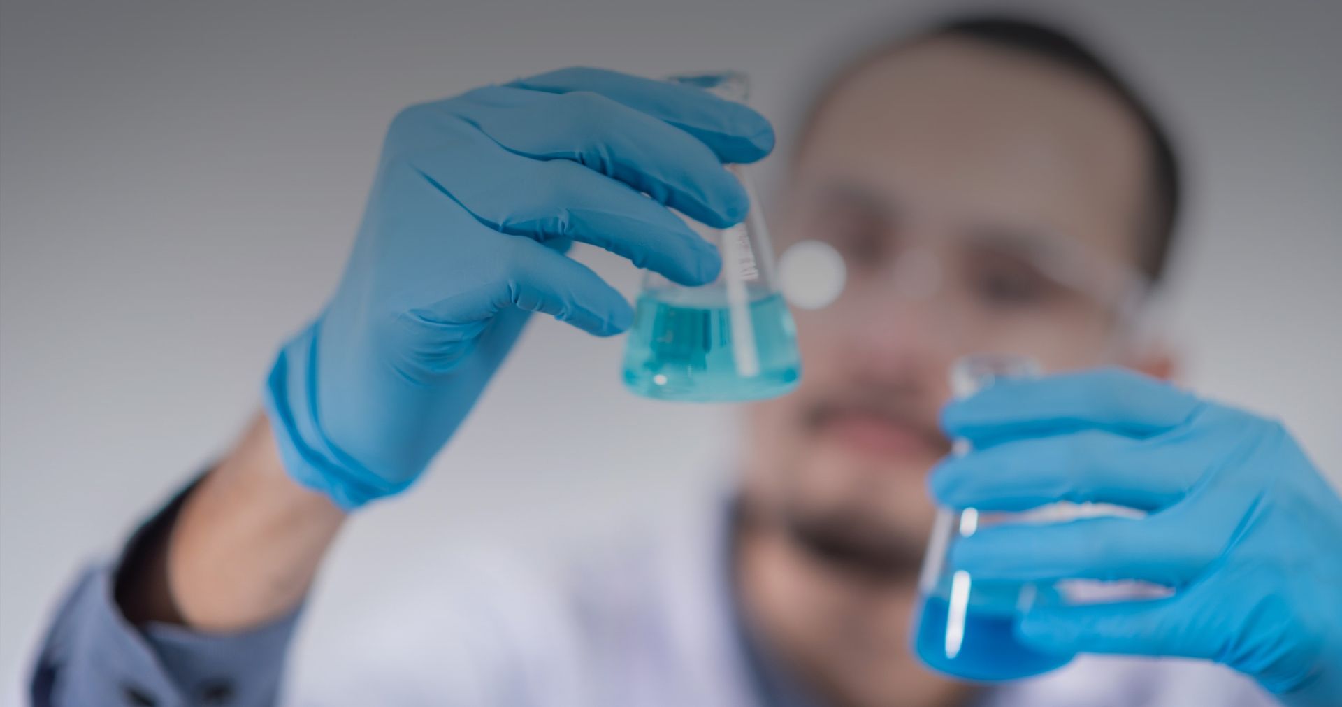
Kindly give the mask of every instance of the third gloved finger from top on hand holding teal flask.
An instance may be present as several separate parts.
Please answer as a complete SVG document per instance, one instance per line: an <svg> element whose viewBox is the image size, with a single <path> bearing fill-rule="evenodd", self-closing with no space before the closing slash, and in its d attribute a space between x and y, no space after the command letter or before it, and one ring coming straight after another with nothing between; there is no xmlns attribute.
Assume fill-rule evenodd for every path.
<svg viewBox="0 0 1342 707"><path fill-rule="evenodd" d="M721 267L718 250L676 215L576 162L529 160L478 135L407 160L495 231L541 241L581 240L683 284L710 282ZM463 160L472 169L460 169Z"/></svg>

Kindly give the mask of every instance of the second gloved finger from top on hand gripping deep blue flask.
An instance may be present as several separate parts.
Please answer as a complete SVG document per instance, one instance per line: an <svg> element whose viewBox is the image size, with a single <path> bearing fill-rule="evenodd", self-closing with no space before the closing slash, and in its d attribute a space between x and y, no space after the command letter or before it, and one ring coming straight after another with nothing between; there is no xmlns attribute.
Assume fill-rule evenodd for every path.
<svg viewBox="0 0 1342 707"><path fill-rule="evenodd" d="M942 460L933 495L953 508L1023 511L1055 500L1153 511L1178 502L1224 451L1196 429L1133 439L1099 429L1027 437Z"/></svg>

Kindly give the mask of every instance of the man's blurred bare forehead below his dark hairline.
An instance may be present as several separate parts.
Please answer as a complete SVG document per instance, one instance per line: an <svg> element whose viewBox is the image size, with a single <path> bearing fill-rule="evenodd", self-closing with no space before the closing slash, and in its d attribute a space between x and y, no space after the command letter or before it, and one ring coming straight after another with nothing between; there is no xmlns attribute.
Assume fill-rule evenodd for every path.
<svg viewBox="0 0 1342 707"><path fill-rule="evenodd" d="M1047 228L1131 259L1146 150L1135 117L1067 67L964 39L891 51L819 109L796 180L899 207Z"/></svg>

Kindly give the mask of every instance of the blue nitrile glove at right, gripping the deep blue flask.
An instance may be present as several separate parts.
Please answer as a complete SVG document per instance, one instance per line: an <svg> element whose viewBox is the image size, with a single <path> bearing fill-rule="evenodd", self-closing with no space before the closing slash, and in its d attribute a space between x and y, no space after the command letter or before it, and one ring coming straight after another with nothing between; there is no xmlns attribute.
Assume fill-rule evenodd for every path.
<svg viewBox="0 0 1342 707"><path fill-rule="evenodd" d="M954 507L1103 502L1146 518L980 529L976 578L1143 580L1169 597L1033 608L1053 653L1224 663L1287 704L1342 704L1342 500L1282 425L1121 370L1002 381L951 402L933 494Z"/></svg>

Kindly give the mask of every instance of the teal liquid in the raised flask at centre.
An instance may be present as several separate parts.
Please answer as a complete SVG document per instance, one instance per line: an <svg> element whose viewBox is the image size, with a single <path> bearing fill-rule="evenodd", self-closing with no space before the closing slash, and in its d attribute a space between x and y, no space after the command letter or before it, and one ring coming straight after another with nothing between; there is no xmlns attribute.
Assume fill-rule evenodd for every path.
<svg viewBox="0 0 1342 707"><path fill-rule="evenodd" d="M625 386L652 398L699 402L761 400L796 388L801 360L782 295L752 301L749 322L733 326L726 303L699 303L691 296L711 294L686 292L694 291L674 301L656 292L639 296L624 354Z"/></svg>

